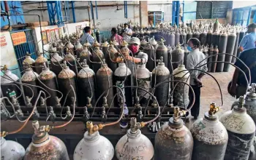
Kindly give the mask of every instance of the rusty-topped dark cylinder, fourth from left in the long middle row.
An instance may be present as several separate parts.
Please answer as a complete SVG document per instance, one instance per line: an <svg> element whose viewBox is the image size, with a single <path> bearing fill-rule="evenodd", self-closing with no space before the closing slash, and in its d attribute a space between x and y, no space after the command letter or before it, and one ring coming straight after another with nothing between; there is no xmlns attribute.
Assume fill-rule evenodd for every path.
<svg viewBox="0 0 256 160"><path fill-rule="evenodd" d="M63 94L63 97L67 96L66 103L64 104L64 99L61 100L61 105L73 105L74 102L72 98L75 98L76 92L76 79L75 79L75 72L69 69L69 66L67 66L64 62L63 70L58 75L58 84L59 84L59 90ZM70 85L75 90L75 93L71 89ZM78 97L76 97L78 98ZM75 100L76 101L76 100Z"/></svg>

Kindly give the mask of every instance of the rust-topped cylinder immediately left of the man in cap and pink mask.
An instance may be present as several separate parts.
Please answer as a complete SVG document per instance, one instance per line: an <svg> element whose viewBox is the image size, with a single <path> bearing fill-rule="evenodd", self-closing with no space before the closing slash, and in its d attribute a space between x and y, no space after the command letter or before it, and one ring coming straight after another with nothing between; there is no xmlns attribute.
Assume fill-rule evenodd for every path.
<svg viewBox="0 0 256 160"><path fill-rule="evenodd" d="M116 71L116 68L118 66L117 63L113 62L113 58L118 53L116 47L113 43L110 43L110 46L108 48L108 54L105 55L105 62L107 63L108 67L111 69L111 71Z"/></svg>

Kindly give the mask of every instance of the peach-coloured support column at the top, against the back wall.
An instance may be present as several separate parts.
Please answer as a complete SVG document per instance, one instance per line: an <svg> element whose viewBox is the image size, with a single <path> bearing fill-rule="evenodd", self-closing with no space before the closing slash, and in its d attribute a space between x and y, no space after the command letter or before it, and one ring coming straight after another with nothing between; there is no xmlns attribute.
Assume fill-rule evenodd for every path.
<svg viewBox="0 0 256 160"><path fill-rule="evenodd" d="M148 1L140 1L140 27L148 26Z"/></svg>

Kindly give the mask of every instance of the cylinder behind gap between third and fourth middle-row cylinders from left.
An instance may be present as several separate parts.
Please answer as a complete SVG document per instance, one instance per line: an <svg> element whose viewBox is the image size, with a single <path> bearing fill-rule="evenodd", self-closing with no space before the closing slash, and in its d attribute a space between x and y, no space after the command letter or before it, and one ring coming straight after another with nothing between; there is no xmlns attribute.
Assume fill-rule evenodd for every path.
<svg viewBox="0 0 256 160"><path fill-rule="evenodd" d="M50 59L50 70L53 71L56 75L58 75L62 68L61 63L63 63L63 57L59 56L57 52L53 53Z"/></svg>

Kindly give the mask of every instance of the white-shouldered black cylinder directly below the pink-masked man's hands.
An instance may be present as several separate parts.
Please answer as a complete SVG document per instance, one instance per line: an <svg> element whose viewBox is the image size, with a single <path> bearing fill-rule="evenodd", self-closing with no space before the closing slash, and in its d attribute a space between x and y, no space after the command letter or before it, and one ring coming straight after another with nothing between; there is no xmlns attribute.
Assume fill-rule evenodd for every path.
<svg viewBox="0 0 256 160"><path fill-rule="evenodd" d="M131 74L132 72L127 68L125 63L118 63L118 68L116 68L116 71L114 72L115 85L120 88L131 86ZM126 103L127 106L132 106L132 88L125 88L123 89L123 92L125 95L124 103ZM116 97L116 104L120 104L123 97L119 89L116 89L116 93L118 93Z"/></svg>

